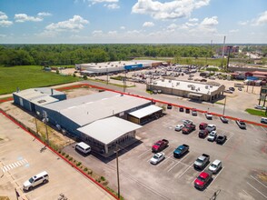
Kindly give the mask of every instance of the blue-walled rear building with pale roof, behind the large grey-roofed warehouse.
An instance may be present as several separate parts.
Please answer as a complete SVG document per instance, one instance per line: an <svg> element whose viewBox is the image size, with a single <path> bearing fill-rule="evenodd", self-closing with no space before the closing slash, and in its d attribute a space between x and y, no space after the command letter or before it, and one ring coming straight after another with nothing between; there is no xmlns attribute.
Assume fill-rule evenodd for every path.
<svg viewBox="0 0 267 200"><path fill-rule="evenodd" d="M13 93L14 104L25 110L36 112L41 105L48 105L66 99L62 92L48 87L31 88Z"/></svg>

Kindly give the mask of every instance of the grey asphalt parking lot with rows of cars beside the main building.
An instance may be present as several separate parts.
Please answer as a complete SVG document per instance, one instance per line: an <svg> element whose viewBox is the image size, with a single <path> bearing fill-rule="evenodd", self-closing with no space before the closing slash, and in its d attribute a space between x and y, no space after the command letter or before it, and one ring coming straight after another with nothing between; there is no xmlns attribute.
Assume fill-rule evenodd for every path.
<svg viewBox="0 0 267 200"><path fill-rule="evenodd" d="M126 199L267 199L267 129L247 125L240 129L234 121L223 124L219 117L207 120L203 114L197 116L181 113L175 107L166 110L162 118L138 131L140 143L122 150L119 156L120 189ZM175 132L183 119L191 119L196 130L189 135ZM202 122L217 126L218 135L227 135L223 145L198 137L198 125ZM165 159L151 165L151 146L160 139L168 139L169 146L163 150ZM190 145L189 153L182 158L173 157L178 145ZM79 159L97 173L104 175L116 188L115 158L104 159L98 155L81 156L69 145L67 154ZM203 190L197 190L193 181L201 171L193 168L193 162L202 154L210 155L210 162L219 159L223 168ZM204 170L207 170L206 165Z"/></svg>

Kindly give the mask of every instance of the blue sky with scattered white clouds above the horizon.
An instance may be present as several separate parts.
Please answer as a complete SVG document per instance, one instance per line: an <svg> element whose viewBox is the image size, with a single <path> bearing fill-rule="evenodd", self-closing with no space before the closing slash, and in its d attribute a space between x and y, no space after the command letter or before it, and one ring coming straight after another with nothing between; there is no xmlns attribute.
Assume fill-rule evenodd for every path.
<svg viewBox="0 0 267 200"><path fill-rule="evenodd" d="M267 44L267 0L0 0L0 44Z"/></svg>

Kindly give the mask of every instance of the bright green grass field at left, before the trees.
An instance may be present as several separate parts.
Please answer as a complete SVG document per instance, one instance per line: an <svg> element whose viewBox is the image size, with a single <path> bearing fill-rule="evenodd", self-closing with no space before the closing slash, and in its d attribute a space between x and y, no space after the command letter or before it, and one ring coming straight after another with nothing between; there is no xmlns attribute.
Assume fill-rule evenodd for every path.
<svg viewBox="0 0 267 200"><path fill-rule="evenodd" d="M16 87L24 90L31 87L60 85L78 81L78 77L57 75L44 72L42 66L20 65L0 66L0 95L16 91Z"/></svg>

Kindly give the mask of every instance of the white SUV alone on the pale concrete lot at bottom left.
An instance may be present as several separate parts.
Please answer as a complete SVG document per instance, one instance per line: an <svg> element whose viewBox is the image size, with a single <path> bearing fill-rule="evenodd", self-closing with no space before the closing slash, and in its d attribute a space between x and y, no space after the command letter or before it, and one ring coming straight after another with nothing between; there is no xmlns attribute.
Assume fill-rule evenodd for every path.
<svg viewBox="0 0 267 200"><path fill-rule="evenodd" d="M24 190L32 190L36 185L46 184L49 180L47 172L41 172L38 175L34 175L24 183Z"/></svg>

